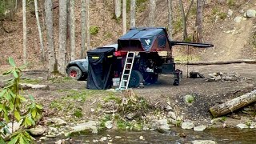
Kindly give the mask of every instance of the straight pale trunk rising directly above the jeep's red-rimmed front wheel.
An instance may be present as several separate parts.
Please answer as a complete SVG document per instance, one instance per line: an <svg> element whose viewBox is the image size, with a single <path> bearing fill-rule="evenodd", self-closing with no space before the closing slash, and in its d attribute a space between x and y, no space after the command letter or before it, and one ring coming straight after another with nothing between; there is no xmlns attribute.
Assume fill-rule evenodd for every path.
<svg viewBox="0 0 256 144"><path fill-rule="evenodd" d="M74 18L74 0L70 0L70 50L71 61L75 59L75 18Z"/></svg>

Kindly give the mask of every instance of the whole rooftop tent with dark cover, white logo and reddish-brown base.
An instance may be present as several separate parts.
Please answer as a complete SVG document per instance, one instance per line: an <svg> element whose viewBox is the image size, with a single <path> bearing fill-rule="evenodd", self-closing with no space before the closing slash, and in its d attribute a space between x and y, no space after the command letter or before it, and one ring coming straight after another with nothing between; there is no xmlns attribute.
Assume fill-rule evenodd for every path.
<svg viewBox="0 0 256 144"><path fill-rule="evenodd" d="M168 35L165 28L137 28L118 38L120 51L170 51Z"/></svg>

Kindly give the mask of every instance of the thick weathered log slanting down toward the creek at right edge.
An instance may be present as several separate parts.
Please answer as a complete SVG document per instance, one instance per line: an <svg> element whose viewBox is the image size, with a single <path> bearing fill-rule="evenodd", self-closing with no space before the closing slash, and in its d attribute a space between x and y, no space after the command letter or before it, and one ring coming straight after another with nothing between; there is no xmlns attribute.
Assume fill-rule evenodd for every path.
<svg viewBox="0 0 256 144"><path fill-rule="evenodd" d="M234 110L238 110L253 102L256 102L256 90L253 90L250 93L243 94L238 98L231 99L230 101L222 103L218 106L210 107L210 113L214 117L219 117L224 114L233 112Z"/></svg>

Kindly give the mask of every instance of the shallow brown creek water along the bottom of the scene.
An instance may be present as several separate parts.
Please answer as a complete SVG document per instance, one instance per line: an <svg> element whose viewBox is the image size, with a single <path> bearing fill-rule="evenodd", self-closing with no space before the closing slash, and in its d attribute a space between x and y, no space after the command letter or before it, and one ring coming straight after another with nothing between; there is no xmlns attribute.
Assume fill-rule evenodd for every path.
<svg viewBox="0 0 256 144"><path fill-rule="evenodd" d="M104 139L101 141L101 138ZM141 138L140 138L141 137ZM119 131L106 130L98 134L81 135L72 138L74 143L120 143L120 144L139 144L139 143L190 143L194 140L213 140L218 143L232 144L256 144L256 130L238 130L236 128L208 129L203 132L194 130L182 130L172 128L169 134L161 134L158 131Z"/></svg>

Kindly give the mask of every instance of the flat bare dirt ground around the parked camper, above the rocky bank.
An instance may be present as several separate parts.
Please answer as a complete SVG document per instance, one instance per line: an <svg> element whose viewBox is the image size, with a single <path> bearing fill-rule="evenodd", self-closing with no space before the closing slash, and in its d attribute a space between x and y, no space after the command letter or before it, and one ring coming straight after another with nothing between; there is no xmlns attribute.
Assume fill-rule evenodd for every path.
<svg viewBox="0 0 256 144"><path fill-rule="evenodd" d="M189 71L198 70L207 78L208 74L214 72L231 73L237 72L242 80L239 82L206 82L206 78L186 78L186 66L177 66L183 71L183 78L179 86L173 86L172 75L161 75L157 84L145 86L144 88L134 88L134 93L146 98L150 104L164 109L167 102L175 110L175 113L182 115L184 120L188 119L198 123L209 123L211 115L210 106L226 102L231 98L244 94L256 87L256 65L254 64L230 64L230 65L211 65L211 66L188 66ZM97 110L97 104L104 97L113 95L109 90L86 90L86 82L74 80L49 81L46 80L46 72L26 71L22 78L38 84L50 86L50 90L26 90L26 94L32 94L36 100L45 108L46 117L72 118L68 109L81 109L83 120L94 118L92 109ZM6 79L0 77L0 80ZM26 81L29 82L29 81ZM70 95L70 90L76 94ZM74 94L74 93L73 93ZM192 105L188 106L183 96L186 94L194 95ZM86 101L82 101L82 95L86 95ZM114 95L122 96L121 92ZM64 97L66 99L64 99ZM55 106L57 105L58 106ZM62 106L66 105L66 106ZM95 116L96 118L96 116ZM75 120L75 119L74 119Z"/></svg>

